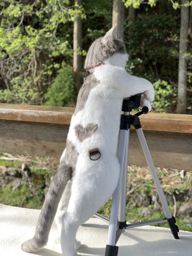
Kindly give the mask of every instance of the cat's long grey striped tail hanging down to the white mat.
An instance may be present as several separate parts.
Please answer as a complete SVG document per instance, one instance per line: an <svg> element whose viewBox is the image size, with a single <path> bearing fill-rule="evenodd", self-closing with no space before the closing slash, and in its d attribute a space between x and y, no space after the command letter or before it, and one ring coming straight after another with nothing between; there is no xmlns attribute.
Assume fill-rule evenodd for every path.
<svg viewBox="0 0 192 256"><path fill-rule="evenodd" d="M39 215L35 236L21 245L23 251L34 252L44 247L48 241L49 231L57 212L57 207L67 182L72 177L72 168L64 160L52 179L44 204Z"/></svg>

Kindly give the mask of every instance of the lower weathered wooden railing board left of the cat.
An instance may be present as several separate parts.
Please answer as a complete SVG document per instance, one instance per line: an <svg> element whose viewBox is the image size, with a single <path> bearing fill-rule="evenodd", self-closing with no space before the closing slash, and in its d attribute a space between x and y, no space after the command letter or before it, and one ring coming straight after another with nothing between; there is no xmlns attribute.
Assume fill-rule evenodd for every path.
<svg viewBox="0 0 192 256"><path fill-rule="evenodd" d="M69 125L0 120L0 152L59 158Z"/></svg>

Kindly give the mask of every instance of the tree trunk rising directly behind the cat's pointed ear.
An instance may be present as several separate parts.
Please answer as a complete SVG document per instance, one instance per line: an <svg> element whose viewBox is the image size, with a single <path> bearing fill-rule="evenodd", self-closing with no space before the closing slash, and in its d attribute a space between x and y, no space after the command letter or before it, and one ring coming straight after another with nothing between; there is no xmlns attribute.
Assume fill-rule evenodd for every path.
<svg viewBox="0 0 192 256"><path fill-rule="evenodd" d="M121 40L124 35L124 11L122 0L113 0L112 27L117 26L117 38Z"/></svg>

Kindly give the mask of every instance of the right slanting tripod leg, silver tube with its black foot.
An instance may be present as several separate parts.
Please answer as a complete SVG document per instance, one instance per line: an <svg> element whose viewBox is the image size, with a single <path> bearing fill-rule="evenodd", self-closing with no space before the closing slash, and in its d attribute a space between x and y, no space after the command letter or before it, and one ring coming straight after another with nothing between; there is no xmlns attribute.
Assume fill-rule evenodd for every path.
<svg viewBox="0 0 192 256"><path fill-rule="evenodd" d="M178 236L179 229L175 225L175 222L176 222L175 218L172 217L172 215L171 215L171 212L170 212L167 200L165 198L164 191L161 188L161 183L159 181L159 177L158 177L158 174L156 172L156 169L155 169L155 166L154 166L151 154L149 152L149 148L147 146L147 143L146 143L146 140L145 140L142 128L136 129L136 131L137 131L137 135L139 137L139 140L140 140L140 143L141 143L141 146L142 146L143 153L145 155L147 164L148 164L149 169L151 171L151 174L152 174L152 177L153 177L153 181L154 181L155 186L157 188L157 192L158 192L158 195L159 195L159 198L160 198L160 201L161 201L161 205L162 205L162 207L164 209L166 218L168 220L168 223L169 223L169 226L170 226L170 229L171 229L171 233L173 234L175 239L179 239L179 236Z"/></svg>

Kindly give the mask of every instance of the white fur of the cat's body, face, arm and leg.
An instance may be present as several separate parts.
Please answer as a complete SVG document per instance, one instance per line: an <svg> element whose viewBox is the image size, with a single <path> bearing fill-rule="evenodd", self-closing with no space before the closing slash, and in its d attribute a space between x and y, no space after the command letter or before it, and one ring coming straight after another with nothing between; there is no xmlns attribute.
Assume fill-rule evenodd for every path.
<svg viewBox="0 0 192 256"><path fill-rule="evenodd" d="M120 171L116 149L123 98L145 92L143 105L148 106L154 99L154 89L149 81L125 71L127 60L127 54L115 54L106 60L108 65L94 69L93 74L100 84L90 91L85 108L71 119L67 140L75 145L79 156L71 185L68 183L65 188L57 213L60 215L58 223L62 226L61 249L64 256L77 255L74 247L77 249L80 245L75 240L79 225L94 215L116 188ZM97 124L98 130L80 142L75 135L75 125L86 127L90 123ZM97 161L88 157L88 151L94 148L101 152Z"/></svg>

